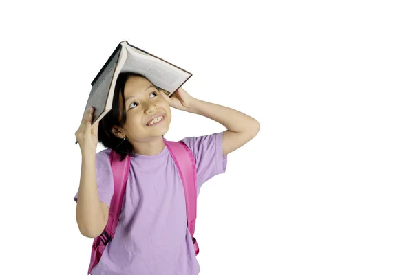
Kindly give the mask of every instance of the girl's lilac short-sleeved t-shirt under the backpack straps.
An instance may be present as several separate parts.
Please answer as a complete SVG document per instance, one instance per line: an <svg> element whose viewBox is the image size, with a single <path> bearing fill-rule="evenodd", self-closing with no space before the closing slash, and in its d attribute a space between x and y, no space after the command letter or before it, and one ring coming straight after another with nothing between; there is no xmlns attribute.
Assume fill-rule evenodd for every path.
<svg viewBox="0 0 413 275"><path fill-rule="evenodd" d="M186 137L182 142L195 158L199 195L205 181L226 170L222 133ZM98 195L107 206L114 192L109 154L110 149L96 154ZM182 181L167 147L158 155L131 157L116 234L92 275L195 275L199 272L187 229Z"/></svg>

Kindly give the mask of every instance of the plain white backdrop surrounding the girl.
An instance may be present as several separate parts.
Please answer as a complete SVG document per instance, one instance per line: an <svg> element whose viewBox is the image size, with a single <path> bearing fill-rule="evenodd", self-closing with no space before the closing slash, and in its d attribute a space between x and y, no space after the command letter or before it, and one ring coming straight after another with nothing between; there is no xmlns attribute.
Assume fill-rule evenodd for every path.
<svg viewBox="0 0 413 275"><path fill-rule="evenodd" d="M261 124L201 189L201 275L413 274L409 4L1 3L0 274L86 274L74 133L123 40ZM172 115L169 140L224 130Z"/></svg>

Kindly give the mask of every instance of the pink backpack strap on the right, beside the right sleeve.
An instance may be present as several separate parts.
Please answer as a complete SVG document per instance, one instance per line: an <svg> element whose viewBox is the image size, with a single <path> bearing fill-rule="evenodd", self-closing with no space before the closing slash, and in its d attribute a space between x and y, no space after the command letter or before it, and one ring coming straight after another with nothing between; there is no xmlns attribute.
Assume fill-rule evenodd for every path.
<svg viewBox="0 0 413 275"><path fill-rule="evenodd" d="M195 159L193 158L191 150L183 142L169 142L164 139L169 153L171 153L176 166L178 167L180 178L184 186L185 202L187 204L187 226L191 233L193 245L195 248L195 255L198 255L200 249L198 243L193 236L195 233L196 220L196 168Z"/></svg>

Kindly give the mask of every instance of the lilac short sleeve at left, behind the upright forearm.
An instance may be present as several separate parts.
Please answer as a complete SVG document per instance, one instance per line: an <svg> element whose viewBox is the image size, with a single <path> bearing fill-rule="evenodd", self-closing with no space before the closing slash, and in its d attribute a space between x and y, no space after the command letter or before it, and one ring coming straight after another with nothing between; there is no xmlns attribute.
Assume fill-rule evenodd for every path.
<svg viewBox="0 0 413 275"><path fill-rule="evenodd" d="M110 207L110 201L114 195L114 177L109 161L110 150L105 149L96 154L96 182L98 184L99 201L106 203ZM78 192L74 196L77 202Z"/></svg>

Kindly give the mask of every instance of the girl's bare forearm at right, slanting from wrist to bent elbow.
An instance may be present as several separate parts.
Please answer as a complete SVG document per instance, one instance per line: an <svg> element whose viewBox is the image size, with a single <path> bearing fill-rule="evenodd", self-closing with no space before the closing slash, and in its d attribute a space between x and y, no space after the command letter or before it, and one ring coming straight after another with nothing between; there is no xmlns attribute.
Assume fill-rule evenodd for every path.
<svg viewBox="0 0 413 275"><path fill-rule="evenodd" d="M191 100L188 111L215 120L234 133L255 132L260 128L257 120L245 113L196 98Z"/></svg>

